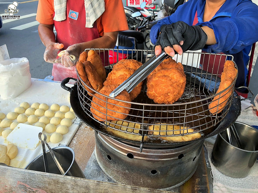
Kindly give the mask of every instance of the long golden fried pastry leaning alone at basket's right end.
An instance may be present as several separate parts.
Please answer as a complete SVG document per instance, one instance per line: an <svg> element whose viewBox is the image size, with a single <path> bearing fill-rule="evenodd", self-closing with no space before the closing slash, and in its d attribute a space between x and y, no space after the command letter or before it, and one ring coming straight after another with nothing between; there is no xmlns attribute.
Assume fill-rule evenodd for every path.
<svg viewBox="0 0 258 193"><path fill-rule="evenodd" d="M236 74L237 74L237 69L235 68L234 62L227 60L224 64L224 69L221 74L220 85L216 94L226 89L230 84L232 84L232 82L236 78ZM225 108L228 102L228 98L233 92L232 87L228 88L220 95L217 95L214 97L212 102L209 104L210 113L214 114L214 113L222 112L222 110Z"/></svg>

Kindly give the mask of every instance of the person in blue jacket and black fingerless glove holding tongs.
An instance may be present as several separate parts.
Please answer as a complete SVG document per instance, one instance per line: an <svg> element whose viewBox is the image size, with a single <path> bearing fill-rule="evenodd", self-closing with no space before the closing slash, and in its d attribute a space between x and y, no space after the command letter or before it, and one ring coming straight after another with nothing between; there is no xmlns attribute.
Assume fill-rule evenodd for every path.
<svg viewBox="0 0 258 193"><path fill-rule="evenodd" d="M239 87L246 85L249 52L258 41L257 30L258 6L250 0L192 0L154 25L150 40L155 44L156 55L164 50L173 57L175 53L181 55L199 49L233 55L239 72L236 87ZM219 64L225 58L212 57L210 61L201 58L202 68L221 74L224 64Z"/></svg>

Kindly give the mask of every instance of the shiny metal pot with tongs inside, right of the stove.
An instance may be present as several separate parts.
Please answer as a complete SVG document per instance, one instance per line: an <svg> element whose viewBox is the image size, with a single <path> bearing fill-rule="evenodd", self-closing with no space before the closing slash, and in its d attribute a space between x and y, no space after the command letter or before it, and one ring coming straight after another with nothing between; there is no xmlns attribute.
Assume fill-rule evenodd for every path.
<svg viewBox="0 0 258 193"><path fill-rule="evenodd" d="M216 138L211 161L222 174L244 178L258 158L258 130L240 122L235 122L234 126L243 149L228 143L226 131L223 131Z"/></svg>

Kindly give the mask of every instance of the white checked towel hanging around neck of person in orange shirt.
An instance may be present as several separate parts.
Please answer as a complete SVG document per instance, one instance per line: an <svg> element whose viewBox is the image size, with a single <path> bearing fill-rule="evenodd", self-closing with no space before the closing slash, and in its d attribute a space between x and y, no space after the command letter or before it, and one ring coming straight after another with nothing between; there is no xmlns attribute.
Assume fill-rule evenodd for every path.
<svg viewBox="0 0 258 193"><path fill-rule="evenodd" d="M55 21L63 21L66 19L66 1L67 0L54 0L55 9ZM84 7L86 12L86 23L85 27L91 28L94 22L102 15L105 11L104 0L84 0Z"/></svg>

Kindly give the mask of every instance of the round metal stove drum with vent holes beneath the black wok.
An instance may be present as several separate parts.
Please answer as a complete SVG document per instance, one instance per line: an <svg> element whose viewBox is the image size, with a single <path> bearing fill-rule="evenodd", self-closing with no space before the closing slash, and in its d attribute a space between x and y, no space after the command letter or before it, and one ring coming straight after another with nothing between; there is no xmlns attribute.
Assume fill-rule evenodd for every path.
<svg viewBox="0 0 258 193"><path fill-rule="evenodd" d="M171 189L196 171L204 140L177 148L143 148L95 132L100 168L112 180L145 188Z"/></svg>

